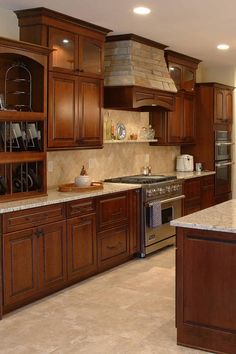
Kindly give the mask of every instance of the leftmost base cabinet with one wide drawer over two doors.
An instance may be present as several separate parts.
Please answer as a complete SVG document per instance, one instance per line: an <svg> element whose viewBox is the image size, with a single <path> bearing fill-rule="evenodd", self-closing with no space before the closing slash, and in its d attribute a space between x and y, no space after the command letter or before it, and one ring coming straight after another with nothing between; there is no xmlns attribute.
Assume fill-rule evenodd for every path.
<svg viewBox="0 0 236 354"><path fill-rule="evenodd" d="M2 216L3 309L63 287L67 277L63 204Z"/></svg>

